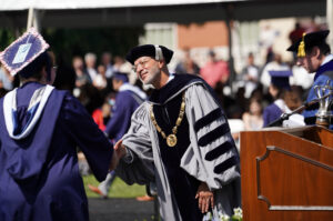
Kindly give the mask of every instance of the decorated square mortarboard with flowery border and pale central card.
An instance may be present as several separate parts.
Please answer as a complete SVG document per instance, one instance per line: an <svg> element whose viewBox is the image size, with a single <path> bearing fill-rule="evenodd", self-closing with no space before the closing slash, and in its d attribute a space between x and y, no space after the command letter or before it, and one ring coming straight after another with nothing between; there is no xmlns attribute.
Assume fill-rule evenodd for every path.
<svg viewBox="0 0 333 221"><path fill-rule="evenodd" d="M14 76L34 61L49 47L40 33L34 28L30 28L0 53L0 61L10 71L11 76Z"/></svg>

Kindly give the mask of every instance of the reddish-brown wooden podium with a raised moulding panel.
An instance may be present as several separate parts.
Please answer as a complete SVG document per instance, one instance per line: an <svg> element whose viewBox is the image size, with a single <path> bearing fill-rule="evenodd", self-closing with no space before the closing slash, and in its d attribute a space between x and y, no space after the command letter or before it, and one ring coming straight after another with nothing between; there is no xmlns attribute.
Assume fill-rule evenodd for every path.
<svg viewBox="0 0 333 221"><path fill-rule="evenodd" d="M333 220L333 131L268 128L240 139L244 221Z"/></svg>

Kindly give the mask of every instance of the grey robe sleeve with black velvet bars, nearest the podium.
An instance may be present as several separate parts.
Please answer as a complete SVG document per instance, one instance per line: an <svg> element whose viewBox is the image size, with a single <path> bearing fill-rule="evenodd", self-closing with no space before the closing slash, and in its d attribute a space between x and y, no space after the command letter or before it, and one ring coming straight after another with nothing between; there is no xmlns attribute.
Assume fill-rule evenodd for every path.
<svg viewBox="0 0 333 221"><path fill-rule="evenodd" d="M239 152L228 120L205 86L190 87L185 99L191 144L181 167L211 190L222 189L240 178Z"/></svg>

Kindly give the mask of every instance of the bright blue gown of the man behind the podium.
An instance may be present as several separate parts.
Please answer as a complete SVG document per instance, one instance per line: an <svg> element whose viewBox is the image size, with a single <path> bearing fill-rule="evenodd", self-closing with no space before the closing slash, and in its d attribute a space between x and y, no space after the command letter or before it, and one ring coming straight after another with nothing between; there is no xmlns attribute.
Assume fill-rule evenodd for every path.
<svg viewBox="0 0 333 221"><path fill-rule="evenodd" d="M331 60L323 66L319 68L314 76L314 82L309 91L309 96L306 99L306 102L310 102L314 99L317 99L316 93L314 91L315 86L325 86L327 80L331 80L330 87L333 88L333 56L330 54L329 58ZM331 106L331 114L332 114L333 106ZM306 110L303 111L304 120L306 124L315 124L315 113L319 110L319 103L311 106L306 108ZM333 130L333 120L331 119L331 124L329 127L331 130Z"/></svg>

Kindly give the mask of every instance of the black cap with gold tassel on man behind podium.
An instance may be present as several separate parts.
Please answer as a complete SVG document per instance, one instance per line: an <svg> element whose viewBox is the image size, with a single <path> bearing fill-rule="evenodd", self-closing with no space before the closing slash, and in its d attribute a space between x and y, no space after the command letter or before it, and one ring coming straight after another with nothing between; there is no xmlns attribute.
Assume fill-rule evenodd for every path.
<svg viewBox="0 0 333 221"><path fill-rule="evenodd" d="M311 33L303 33L303 37L299 39L294 44L289 47L286 50L297 52L297 57L305 57L305 51L325 43L325 39L329 36L330 30L315 31Z"/></svg>

